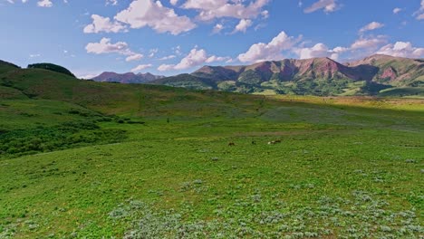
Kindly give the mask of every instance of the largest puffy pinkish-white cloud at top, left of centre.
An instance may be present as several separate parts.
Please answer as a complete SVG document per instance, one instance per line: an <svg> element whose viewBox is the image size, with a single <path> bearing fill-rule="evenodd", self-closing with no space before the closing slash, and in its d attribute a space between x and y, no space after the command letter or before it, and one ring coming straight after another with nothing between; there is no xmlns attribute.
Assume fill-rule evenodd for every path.
<svg viewBox="0 0 424 239"><path fill-rule="evenodd" d="M158 33L177 35L192 30L196 24L187 16L175 14L173 9L163 6L160 1L135 0L130 6L115 16L121 23L131 28L149 26Z"/></svg>

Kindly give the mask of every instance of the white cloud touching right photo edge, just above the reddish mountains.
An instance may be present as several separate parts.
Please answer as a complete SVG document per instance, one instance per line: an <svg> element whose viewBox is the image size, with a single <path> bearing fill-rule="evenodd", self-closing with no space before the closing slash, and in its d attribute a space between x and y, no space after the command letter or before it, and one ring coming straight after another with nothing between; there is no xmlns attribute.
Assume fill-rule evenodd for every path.
<svg viewBox="0 0 424 239"><path fill-rule="evenodd" d="M411 43L397 42L381 47L377 53L398 57L420 58L424 57L424 48L414 47Z"/></svg>

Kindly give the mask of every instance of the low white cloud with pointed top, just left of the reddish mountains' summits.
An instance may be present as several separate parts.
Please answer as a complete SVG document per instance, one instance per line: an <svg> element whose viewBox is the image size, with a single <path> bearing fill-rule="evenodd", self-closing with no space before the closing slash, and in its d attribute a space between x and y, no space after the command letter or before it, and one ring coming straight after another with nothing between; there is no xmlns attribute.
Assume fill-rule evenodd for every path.
<svg viewBox="0 0 424 239"><path fill-rule="evenodd" d="M158 70L161 72L171 71L171 70L186 70L203 63L210 62L224 62L227 61L228 57L218 57L216 55L207 55L207 52L203 49L193 48L190 53L183 59L181 59L178 64L162 64L159 66Z"/></svg>

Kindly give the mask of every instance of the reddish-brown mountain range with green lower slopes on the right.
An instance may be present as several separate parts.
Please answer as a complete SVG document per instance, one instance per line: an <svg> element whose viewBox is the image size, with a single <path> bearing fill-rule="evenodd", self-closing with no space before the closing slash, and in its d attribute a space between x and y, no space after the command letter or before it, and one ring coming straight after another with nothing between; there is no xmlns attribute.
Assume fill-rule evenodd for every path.
<svg viewBox="0 0 424 239"><path fill-rule="evenodd" d="M358 62L329 58L258 62L246 66L204 66L150 84L242 93L298 95L378 95L389 88L424 95L424 62L419 59L372 55ZM403 94L402 94L403 95Z"/></svg>

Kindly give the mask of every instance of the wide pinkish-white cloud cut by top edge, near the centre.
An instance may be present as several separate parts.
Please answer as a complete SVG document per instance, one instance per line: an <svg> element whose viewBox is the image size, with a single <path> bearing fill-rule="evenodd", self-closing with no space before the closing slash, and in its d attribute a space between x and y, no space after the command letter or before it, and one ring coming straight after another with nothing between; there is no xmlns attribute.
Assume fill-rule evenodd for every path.
<svg viewBox="0 0 424 239"><path fill-rule="evenodd" d="M249 5L244 5L244 2L240 0L188 0L183 8L198 10L198 19L201 21L210 21L221 17L250 19L263 14L263 7L269 3L269 0L255 0Z"/></svg>

